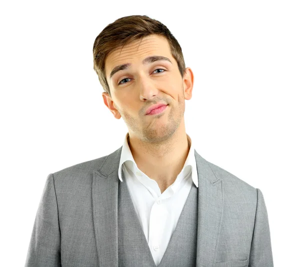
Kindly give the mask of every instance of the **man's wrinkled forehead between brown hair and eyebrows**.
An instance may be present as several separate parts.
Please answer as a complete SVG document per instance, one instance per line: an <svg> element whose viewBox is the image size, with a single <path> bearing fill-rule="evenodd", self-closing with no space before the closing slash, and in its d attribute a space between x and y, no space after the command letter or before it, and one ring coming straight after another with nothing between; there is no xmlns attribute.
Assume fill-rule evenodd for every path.
<svg viewBox="0 0 300 267"><path fill-rule="evenodd" d="M142 39L126 44L122 49L113 50L105 59L105 76L117 65L131 62L141 62L149 55L161 55L168 57L171 61L170 46L166 38L156 34L148 35Z"/></svg>

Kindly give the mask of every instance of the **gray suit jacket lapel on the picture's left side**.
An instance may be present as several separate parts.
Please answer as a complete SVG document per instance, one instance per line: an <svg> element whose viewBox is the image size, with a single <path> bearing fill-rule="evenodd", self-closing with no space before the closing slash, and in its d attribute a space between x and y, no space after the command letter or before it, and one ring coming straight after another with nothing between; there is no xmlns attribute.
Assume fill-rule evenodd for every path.
<svg viewBox="0 0 300 267"><path fill-rule="evenodd" d="M121 147L108 155L102 167L93 171L92 213L99 266L118 266L118 164Z"/></svg>

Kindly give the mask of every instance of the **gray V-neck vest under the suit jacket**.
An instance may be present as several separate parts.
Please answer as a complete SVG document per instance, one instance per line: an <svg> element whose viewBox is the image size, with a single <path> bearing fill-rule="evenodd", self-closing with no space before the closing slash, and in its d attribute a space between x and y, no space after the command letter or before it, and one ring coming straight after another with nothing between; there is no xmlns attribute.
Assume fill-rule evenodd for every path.
<svg viewBox="0 0 300 267"><path fill-rule="evenodd" d="M118 266L156 267L127 184L125 181L118 184ZM196 266L197 222L198 188L192 183L159 267Z"/></svg>

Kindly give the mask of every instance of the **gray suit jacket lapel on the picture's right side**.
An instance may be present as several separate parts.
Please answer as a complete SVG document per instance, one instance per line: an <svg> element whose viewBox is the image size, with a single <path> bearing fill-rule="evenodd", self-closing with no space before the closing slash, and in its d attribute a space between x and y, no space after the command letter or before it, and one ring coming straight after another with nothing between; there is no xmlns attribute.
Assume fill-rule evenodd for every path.
<svg viewBox="0 0 300 267"><path fill-rule="evenodd" d="M223 212L221 179L195 151L198 173L198 231L196 267L212 267Z"/></svg>

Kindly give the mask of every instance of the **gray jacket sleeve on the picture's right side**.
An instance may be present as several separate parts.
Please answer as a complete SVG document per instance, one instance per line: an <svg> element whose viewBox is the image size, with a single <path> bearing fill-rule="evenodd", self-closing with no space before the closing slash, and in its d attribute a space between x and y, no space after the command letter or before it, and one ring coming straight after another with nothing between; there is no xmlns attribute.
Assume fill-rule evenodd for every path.
<svg viewBox="0 0 300 267"><path fill-rule="evenodd" d="M256 214L249 256L249 267L273 267L266 206L261 191L257 188L256 192Z"/></svg>

